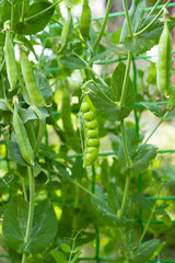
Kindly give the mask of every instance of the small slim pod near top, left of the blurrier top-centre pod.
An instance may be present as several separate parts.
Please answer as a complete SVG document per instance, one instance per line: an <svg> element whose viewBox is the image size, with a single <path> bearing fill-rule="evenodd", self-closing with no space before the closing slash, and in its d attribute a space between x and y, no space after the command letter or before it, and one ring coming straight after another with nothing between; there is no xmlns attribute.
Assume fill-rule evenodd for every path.
<svg viewBox="0 0 175 263"><path fill-rule="evenodd" d="M66 21L62 32L61 32L61 48L60 52L67 46L68 42L70 41L70 37L72 35L73 31L73 20L71 12L69 12L68 20Z"/></svg>

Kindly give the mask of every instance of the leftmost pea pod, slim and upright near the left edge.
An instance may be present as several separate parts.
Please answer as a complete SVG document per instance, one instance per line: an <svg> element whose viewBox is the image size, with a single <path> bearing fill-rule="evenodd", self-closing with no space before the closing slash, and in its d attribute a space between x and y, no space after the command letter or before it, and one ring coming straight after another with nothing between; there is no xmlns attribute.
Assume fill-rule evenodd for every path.
<svg viewBox="0 0 175 263"><path fill-rule="evenodd" d="M10 36L9 28L5 30L4 58L7 65L8 79L12 91L18 82L18 68L14 55L14 47Z"/></svg>

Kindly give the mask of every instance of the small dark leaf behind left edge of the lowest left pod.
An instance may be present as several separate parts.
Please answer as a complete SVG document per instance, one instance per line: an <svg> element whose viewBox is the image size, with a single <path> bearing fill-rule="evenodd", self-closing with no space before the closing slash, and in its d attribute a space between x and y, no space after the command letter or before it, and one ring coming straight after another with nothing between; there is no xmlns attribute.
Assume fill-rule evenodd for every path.
<svg viewBox="0 0 175 263"><path fill-rule="evenodd" d="M21 150L20 150L18 142L10 140L8 144L8 149L9 149L10 158L13 161L15 161L16 163L19 163L23 167L27 167L26 162L24 161L24 159L21 155Z"/></svg>

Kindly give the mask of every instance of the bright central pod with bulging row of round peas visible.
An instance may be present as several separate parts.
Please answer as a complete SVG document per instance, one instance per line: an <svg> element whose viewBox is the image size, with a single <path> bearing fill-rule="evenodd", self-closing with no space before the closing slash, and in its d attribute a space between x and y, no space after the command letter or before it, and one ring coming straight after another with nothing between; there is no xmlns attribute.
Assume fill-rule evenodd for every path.
<svg viewBox="0 0 175 263"><path fill-rule="evenodd" d="M95 162L100 151L98 125L96 121L95 107L88 94L84 94L83 102L81 104L81 111L85 129L85 149L83 155L83 167L85 168Z"/></svg>

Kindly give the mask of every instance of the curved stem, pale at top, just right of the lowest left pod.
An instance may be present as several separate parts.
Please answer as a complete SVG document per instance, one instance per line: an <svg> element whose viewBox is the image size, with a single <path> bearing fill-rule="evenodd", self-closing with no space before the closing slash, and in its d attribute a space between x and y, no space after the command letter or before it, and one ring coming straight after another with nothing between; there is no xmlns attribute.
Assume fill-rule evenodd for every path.
<svg viewBox="0 0 175 263"><path fill-rule="evenodd" d="M45 132L45 117L43 116L42 112L38 110L38 107L36 107L35 105L32 106L32 110L36 113L37 117L38 117L38 122L39 122L39 128L38 128L38 134L37 134L37 139L36 139L36 145L35 145L35 149L34 149L34 155L36 156L39 147L40 147L40 142L44 136L44 132Z"/></svg>

